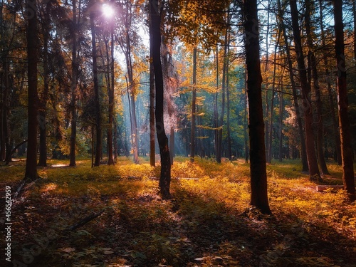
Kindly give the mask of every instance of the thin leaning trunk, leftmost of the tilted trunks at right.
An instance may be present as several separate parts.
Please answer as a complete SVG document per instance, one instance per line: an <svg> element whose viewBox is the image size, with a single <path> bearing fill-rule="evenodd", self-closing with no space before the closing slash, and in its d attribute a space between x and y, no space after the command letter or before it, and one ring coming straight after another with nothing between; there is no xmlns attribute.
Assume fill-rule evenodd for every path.
<svg viewBox="0 0 356 267"><path fill-rule="evenodd" d="M304 132L303 132L303 122L302 122L302 117L300 115L300 108L299 108L299 104L298 104L298 96L297 96L296 85L295 85L295 80L294 80L293 63L292 63L292 58L290 56L290 46L288 44L286 24L283 21L284 11L281 8L281 0L278 0L277 4L278 4L278 13L279 13L279 18L280 18L281 28L283 30L284 43L286 46L290 85L292 86L292 90L293 90L293 103L294 103L294 108L295 108L295 116L297 118L298 133L299 133L299 137L300 137L302 172L308 172L309 167L308 167L308 158L307 158L306 147L305 147L305 142L304 142L305 136L304 136Z"/></svg>

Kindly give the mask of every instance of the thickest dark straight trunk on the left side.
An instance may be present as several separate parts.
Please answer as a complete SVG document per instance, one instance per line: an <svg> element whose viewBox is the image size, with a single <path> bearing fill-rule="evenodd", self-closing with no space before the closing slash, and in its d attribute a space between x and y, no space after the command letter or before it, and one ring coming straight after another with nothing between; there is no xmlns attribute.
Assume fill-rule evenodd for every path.
<svg viewBox="0 0 356 267"><path fill-rule="evenodd" d="M27 28L27 58L28 58L28 146L26 156L25 179L35 180L37 174L37 126L38 126L38 94L37 94L37 64L38 64L38 28L36 0L26 1Z"/></svg>

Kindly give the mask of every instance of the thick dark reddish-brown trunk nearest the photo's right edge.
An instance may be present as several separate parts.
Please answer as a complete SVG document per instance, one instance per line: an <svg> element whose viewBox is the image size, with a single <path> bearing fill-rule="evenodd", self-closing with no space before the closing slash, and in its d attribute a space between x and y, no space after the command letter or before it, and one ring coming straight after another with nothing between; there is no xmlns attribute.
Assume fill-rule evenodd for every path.
<svg viewBox="0 0 356 267"><path fill-rule="evenodd" d="M353 152L348 115L344 25L342 23L342 0L334 0L335 21L335 53L337 63L337 105L339 109L339 129L342 155L342 182L347 196L351 201L356 200L355 179L353 167Z"/></svg>

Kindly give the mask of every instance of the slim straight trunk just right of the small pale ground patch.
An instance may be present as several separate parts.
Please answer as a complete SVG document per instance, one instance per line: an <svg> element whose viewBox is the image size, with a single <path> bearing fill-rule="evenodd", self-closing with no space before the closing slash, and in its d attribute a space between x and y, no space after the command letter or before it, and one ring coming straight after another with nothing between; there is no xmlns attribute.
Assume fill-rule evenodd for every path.
<svg viewBox="0 0 356 267"><path fill-rule="evenodd" d="M78 62L77 62L77 3L73 0L73 33L72 33L72 80L70 84L70 154L69 154L69 166L75 166L75 140L77 137L77 112L76 112L76 89L78 84Z"/></svg>

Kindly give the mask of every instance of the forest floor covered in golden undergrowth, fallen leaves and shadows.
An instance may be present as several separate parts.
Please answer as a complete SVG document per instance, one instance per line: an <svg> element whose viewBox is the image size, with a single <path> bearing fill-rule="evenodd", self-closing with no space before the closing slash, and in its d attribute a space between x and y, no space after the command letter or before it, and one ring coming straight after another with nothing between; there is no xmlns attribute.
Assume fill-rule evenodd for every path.
<svg viewBox="0 0 356 267"><path fill-rule="evenodd" d="M248 206L242 160L177 158L170 200L157 194L159 167L141 161L91 168L89 159L77 167L49 159L38 167L41 179L11 206L9 266L356 266L356 204L342 190L317 192L296 161L268 164L272 216ZM328 167L332 176L320 184L342 184L341 167ZM0 165L1 207L24 168Z"/></svg>

